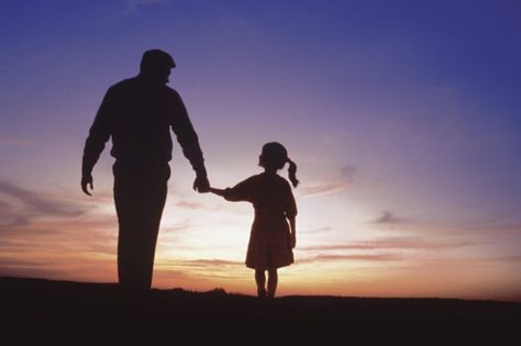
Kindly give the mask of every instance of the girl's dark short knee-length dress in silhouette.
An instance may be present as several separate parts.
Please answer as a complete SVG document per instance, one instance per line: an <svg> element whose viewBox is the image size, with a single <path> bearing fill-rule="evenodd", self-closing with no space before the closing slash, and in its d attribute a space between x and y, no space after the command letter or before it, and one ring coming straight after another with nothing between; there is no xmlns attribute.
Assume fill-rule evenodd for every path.
<svg viewBox="0 0 521 346"><path fill-rule="evenodd" d="M297 204L286 179L265 172L252 176L225 189L224 198L228 201L251 202L255 209L246 267L267 270L293 263L287 219L297 215Z"/></svg>

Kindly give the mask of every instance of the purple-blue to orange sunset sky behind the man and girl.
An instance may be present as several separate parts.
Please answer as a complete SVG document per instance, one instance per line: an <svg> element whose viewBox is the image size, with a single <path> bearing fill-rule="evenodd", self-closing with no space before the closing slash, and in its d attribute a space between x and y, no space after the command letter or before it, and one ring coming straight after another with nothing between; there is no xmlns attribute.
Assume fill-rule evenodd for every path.
<svg viewBox="0 0 521 346"><path fill-rule="evenodd" d="M298 165L279 295L521 301L521 2L0 0L0 276L117 281L107 88L169 52L212 186ZM175 142L153 286L254 294L253 208ZM287 171L280 171L287 177Z"/></svg>

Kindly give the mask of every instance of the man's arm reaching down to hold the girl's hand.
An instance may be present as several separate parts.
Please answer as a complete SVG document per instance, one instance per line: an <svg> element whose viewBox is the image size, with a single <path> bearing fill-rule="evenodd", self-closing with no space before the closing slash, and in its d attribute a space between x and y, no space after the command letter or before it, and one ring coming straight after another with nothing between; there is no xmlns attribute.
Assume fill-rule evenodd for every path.
<svg viewBox="0 0 521 346"><path fill-rule="evenodd" d="M179 142L182 148L182 154L190 161L191 167L196 171L193 189L199 192L209 192L210 182L208 181L204 158L201 147L199 146L199 138L188 118L185 103L176 91L174 91L174 102L175 110L171 129L176 134L177 142Z"/></svg>

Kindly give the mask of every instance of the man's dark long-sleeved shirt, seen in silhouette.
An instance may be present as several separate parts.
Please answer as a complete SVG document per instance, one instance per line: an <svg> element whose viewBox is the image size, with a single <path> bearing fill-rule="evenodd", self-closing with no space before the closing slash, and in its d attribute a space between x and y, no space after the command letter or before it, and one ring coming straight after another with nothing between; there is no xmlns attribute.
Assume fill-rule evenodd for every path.
<svg viewBox="0 0 521 346"><path fill-rule="evenodd" d="M173 149L170 129L198 171L202 153L179 94L143 76L118 82L107 91L90 129L87 166L93 166L111 136L111 155L120 163L167 163Z"/></svg>

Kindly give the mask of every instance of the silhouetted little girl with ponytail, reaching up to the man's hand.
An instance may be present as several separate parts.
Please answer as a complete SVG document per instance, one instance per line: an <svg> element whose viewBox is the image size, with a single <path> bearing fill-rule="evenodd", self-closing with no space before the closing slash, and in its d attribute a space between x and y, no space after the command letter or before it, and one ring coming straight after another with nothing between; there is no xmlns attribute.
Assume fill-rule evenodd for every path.
<svg viewBox="0 0 521 346"><path fill-rule="evenodd" d="M268 298L275 297L277 268L293 263L297 204L288 181L277 175L277 170L284 168L286 163L289 164L289 180L297 187L297 166L288 158L281 144L271 142L263 146L258 158L258 165L264 167L263 174L250 177L233 188L210 188L210 192L222 196L228 201L253 203L255 219L250 234L246 266L255 269L259 298L266 294ZM265 271L268 271L267 292Z"/></svg>

